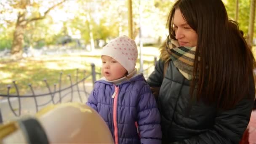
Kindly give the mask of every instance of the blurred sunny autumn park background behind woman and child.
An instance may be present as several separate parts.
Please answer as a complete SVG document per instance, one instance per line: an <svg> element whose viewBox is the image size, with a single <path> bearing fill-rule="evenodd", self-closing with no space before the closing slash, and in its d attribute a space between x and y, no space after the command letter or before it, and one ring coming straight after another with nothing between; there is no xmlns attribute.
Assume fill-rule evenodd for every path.
<svg viewBox="0 0 256 144"><path fill-rule="evenodd" d="M61 94L58 100L53 100L56 91L72 89L76 86L74 83L88 88L85 96L79 94L78 97L86 101L83 97L90 93L93 81L101 77L101 48L120 35L128 35L138 44L136 67L147 77L158 59L158 48L168 35L166 21L174 1L1 0L2 113L10 107L12 112L5 112L5 116L13 113L19 116L22 105L35 103L16 101L13 104L10 100L22 96L46 93L53 104L61 102ZM239 23L256 53L255 0L223 2L229 18ZM83 84L79 84L79 80L83 80ZM3 108L7 102L9 106ZM37 108L39 104L35 105Z"/></svg>

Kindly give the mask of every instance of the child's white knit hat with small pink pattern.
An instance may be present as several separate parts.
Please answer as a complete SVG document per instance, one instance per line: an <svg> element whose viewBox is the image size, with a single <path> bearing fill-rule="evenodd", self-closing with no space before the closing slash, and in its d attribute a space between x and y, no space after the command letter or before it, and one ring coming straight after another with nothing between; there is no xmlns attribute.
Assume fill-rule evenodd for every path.
<svg viewBox="0 0 256 144"><path fill-rule="evenodd" d="M135 69L138 50L134 40L123 35L105 45L101 52L101 56L103 55L118 61L130 74Z"/></svg>

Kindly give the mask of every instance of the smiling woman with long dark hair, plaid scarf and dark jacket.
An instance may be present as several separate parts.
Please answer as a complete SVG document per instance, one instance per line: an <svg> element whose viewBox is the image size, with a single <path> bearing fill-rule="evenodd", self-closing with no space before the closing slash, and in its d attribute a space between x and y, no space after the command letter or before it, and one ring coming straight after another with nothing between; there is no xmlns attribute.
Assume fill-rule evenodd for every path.
<svg viewBox="0 0 256 144"><path fill-rule="evenodd" d="M160 87L162 143L238 144L255 96L256 65L243 32L221 0L177 0L167 25L147 80Z"/></svg>

